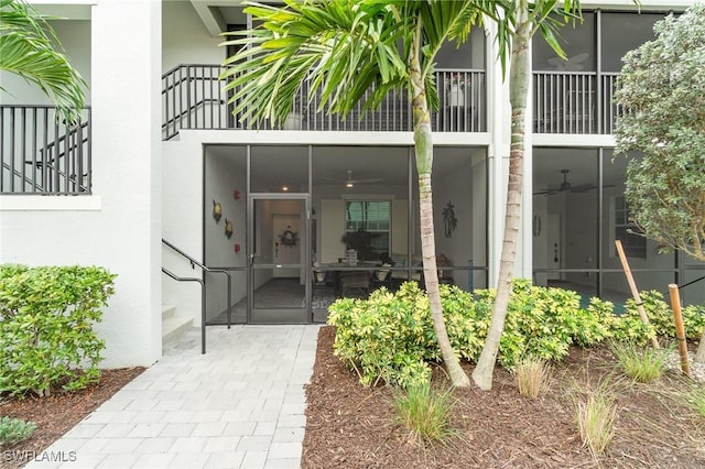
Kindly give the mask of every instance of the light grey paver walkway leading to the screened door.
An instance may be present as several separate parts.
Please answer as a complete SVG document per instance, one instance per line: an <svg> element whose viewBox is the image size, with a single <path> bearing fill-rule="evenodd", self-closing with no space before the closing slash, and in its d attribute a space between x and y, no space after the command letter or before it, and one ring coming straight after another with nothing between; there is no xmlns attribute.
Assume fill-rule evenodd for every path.
<svg viewBox="0 0 705 469"><path fill-rule="evenodd" d="M26 467L299 468L318 328L193 329Z"/></svg>

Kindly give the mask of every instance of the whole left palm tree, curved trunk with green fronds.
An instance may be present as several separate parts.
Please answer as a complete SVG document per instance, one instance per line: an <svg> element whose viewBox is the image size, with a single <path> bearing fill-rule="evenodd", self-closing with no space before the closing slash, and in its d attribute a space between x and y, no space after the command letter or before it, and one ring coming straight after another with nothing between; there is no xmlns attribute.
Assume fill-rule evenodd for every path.
<svg viewBox="0 0 705 469"><path fill-rule="evenodd" d="M481 20L475 1L285 0L284 7L249 3L259 28L231 33L224 45L242 47L221 75L234 113L260 126L283 122L304 81L322 107L347 114L366 92L364 109L388 92L405 90L412 105L425 287L434 330L454 385L469 379L453 352L443 319L436 270L431 174L430 108L437 108L434 57L446 41L463 43Z"/></svg>

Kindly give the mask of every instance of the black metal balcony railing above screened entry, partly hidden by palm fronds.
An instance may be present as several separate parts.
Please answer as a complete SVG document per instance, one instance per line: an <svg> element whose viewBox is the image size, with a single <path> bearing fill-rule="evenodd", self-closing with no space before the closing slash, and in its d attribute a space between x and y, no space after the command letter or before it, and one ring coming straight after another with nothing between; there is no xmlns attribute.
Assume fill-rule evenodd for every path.
<svg viewBox="0 0 705 469"><path fill-rule="evenodd" d="M181 65L162 76L162 137L169 140L181 129L248 129L236 119L223 91L218 65ZM432 127L440 132L485 132L487 101L484 70L437 70L440 109L432 112ZM406 95L392 92L379 109L362 112L360 103L345 118L321 109L321 96L308 101L302 86L284 130L312 131L411 131L411 105ZM271 127L264 126L264 129Z"/></svg>

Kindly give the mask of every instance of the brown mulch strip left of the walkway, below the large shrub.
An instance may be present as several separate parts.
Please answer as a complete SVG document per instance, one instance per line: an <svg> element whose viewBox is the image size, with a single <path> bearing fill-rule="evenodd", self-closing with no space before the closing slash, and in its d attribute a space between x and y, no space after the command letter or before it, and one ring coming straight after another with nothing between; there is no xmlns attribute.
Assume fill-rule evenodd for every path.
<svg viewBox="0 0 705 469"><path fill-rule="evenodd" d="M98 383L73 393L59 391L46 397L23 399L0 396L0 416L7 415L36 424L36 430L30 439L1 448L3 457L0 459L0 467L18 468L26 463L28 460L9 455L17 454L15 451L32 455L33 451L39 454L46 449L144 370L142 367L102 370Z"/></svg>

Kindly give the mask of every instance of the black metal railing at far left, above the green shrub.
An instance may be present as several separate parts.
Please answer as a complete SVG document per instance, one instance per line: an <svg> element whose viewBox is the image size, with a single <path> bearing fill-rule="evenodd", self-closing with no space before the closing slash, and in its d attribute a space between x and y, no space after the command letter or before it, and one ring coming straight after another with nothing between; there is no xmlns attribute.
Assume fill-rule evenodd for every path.
<svg viewBox="0 0 705 469"><path fill-rule="evenodd" d="M0 106L0 194L90 194L90 108L76 124L53 106Z"/></svg>

